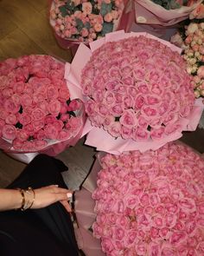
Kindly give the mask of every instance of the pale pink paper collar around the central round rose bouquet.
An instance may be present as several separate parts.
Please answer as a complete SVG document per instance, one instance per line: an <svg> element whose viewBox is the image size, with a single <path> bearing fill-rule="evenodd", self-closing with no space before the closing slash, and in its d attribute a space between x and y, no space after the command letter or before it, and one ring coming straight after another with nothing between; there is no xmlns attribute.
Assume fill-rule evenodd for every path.
<svg viewBox="0 0 204 256"><path fill-rule="evenodd" d="M128 38L131 36L148 36L159 42L167 45L173 51L177 51L179 53L182 52L182 49L177 48L175 45L157 38L156 36L152 36L147 33L124 33L124 30L112 32L107 34L105 37L90 43L90 49L86 47L83 43L80 44L80 47L76 53L76 56L73 58L73 62L66 64L65 69L65 78L67 79L67 84L69 86L71 94L71 99L80 98L80 100L86 102L86 98L81 94L80 87L80 74L82 69L85 67L86 62L89 61L92 51L98 49L101 45L106 42L118 41L120 39ZM83 58L81 58L83 56ZM71 85L71 86L70 86ZM72 98L73 97L73 98ZM83 130L83 135L87 134L86 137L86 145L97 148L99 151L105 151L111 154L120 154L124 151L130 150L140 150L141 152L145 152L149 149L156 150L157 148L162 147L165 143L169 141L175 141L182 137L182 131L193 131L196 129L199 120L201 118L202 107L200 102L195 102L193 111L187 118L181 119L181 130L179 132L175 132L173 135L169 135L162 140L158 141L133 141L131 139L124 140L122 138L118 138L117 140L109 135L103 128L95 128L92 127L90 121L86 121L86 125Z"/></svg>

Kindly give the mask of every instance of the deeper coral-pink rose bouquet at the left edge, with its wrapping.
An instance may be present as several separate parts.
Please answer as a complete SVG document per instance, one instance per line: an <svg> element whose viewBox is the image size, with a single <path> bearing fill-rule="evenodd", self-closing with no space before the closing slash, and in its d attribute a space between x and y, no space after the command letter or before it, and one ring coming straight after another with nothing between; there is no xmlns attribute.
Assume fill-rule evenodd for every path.
<svg viewBox="0 0 204 256"><path fill-rule="evenodd" d="M0 62L0 148L58 154L79 139L83 104L70 100L64 72L51 56Z"/></svg>

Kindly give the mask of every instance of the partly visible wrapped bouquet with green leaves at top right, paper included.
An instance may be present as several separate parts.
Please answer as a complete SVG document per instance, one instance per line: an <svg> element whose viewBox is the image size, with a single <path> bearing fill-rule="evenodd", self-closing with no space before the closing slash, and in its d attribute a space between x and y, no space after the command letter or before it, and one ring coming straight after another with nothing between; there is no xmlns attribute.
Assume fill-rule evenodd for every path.
<svg viewBox="0 0 204 256"><path fill-rule="evenodd" d="M172 26L188 18L189 14L202 2L135 0L136 22Z"/></svg>

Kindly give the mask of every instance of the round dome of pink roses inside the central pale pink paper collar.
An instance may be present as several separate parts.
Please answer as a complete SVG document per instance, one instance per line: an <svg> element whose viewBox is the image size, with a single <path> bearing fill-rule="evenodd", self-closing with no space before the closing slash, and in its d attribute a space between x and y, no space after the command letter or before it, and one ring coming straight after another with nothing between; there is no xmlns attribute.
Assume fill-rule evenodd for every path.
<svg viewBox="0 0 204 256"><path fill-rule="evenodd" d="M157 141L181 131L194 105L182 57L146 36L105 43L81 75L92 126L113 137Z"/></svg>

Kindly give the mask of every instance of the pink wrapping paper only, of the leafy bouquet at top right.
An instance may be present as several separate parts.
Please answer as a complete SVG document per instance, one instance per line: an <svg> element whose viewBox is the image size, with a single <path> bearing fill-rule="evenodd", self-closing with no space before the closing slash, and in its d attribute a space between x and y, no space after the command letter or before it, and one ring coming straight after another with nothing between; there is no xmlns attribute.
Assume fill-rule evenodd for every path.
<svg viewBox="0 0 204 256"><path fill-rule="evenodd" d="M161 5L150 0L135 0L135 14L137 23L172 26L188 18L201 1L192 6L182 6L175 10L166 10Z"/></svg>

